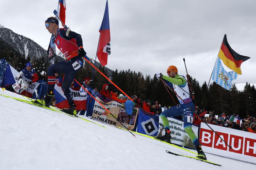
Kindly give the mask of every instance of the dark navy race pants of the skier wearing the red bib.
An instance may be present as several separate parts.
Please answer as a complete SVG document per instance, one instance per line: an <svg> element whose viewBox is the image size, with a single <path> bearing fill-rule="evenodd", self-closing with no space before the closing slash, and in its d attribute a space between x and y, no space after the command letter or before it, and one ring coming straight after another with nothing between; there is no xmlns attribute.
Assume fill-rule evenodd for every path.
<svg viewBox="0 0 256 170"><path fill-rule="evenodd" d="M76 73L82 68L83 66L83 59L80 56L76 56L74 58L71 58L68 61L62 61L55 63L52 66L48 67L48 90L47 92L53 92L54 91L54 85L55 85L55 75L56 72L63 72L64 78L61 83L61 89L64 92L65 97L68 100L68 104L71 106L74 104L73 101L73 95L70 92L70 85L73 82ZM55 81L54 81L55 79Z"/></svg>

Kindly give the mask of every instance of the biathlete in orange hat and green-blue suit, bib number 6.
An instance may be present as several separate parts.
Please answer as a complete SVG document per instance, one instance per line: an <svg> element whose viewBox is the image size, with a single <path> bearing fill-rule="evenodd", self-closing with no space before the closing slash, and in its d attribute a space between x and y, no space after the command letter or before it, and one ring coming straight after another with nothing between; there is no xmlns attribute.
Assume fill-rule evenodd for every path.
<svg viewBox="0 0 256 170"><path fill-rule="evenodd" d="M191 138L193 144L196 146L196 150L198 152L199 158L203 158L206 160L206 156L202 151L201 144L198 141L198 138L192 131L192 121L193 121L193 113L195 112L195 105L189 94L188 82L185 80L184 76L178 74L178 70L176 66L169 66L167 68L167 75L162 75L162 73L156 73L155 77L157 79L164 79L169 81L173 85L173 89L176 92L176 96L179 99L180 104L171 107L161 113L161 118L163 120L164 128L166 128L165 135L159 136L160 140L164 140L170 142L170 128L169 121L167 117L179 116L183 115L184 117L184 130Z"/></svg>

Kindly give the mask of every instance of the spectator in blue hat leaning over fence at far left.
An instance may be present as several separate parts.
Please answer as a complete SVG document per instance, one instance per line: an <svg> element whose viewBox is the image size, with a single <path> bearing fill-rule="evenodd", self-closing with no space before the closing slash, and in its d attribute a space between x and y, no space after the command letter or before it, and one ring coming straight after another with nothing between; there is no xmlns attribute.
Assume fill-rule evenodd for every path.
<svg viewBox="0 0 256 170"><path fill-rule="evenodd" d="M31 67L31 63L26 63L26 68L22 69L16 76L16 78L20 79L22 77L25 77L31 81L28 81L27 84L31 86L33 82L38 81L38 75L36 71ZM23 91L20 93L20 95L25 95L27 97L32 97L32 94L27 93L26 91Z"/></svg>

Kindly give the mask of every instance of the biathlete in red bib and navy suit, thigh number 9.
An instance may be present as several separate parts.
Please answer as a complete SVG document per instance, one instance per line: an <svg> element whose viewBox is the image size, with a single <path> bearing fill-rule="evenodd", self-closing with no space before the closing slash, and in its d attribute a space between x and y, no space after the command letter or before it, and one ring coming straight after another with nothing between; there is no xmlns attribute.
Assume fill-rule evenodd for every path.
<svg viewBox="0 0 256 170"><path fill-rule="evenodd" d="M73 101L73 96L70 92L70 85L73 82L76 73L83 66L83 56L86 52L83 49L83 41L81 35L76 32L59 28L58 20L55 17L49 17L45 21L45 27L49 33L55 35L55 43L60 51L65 56L66 61L55 63L48 67L48 90L47 95L42 100L37 100L39 103L49 106L51 98L54 97L54 85L56 72L63 72L64 77L61 88L70 106L69 112L77 114L76 105Z"/></svg>

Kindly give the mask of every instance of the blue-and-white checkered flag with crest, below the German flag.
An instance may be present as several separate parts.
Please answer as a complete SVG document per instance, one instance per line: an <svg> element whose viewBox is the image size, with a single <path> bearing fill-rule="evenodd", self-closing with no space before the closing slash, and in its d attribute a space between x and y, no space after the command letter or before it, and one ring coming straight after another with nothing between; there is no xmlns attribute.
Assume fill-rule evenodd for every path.
<svg viewBox="0 0 256 170"><path fill-rule="evenodd" d="M237 78L237 73L234 71L226 72L221 64L220 58L217 57L217 60L214 65L212 72L212 80L215 81L221 87L230 90L232 87L232 82Z"/></svg>

